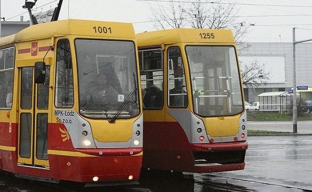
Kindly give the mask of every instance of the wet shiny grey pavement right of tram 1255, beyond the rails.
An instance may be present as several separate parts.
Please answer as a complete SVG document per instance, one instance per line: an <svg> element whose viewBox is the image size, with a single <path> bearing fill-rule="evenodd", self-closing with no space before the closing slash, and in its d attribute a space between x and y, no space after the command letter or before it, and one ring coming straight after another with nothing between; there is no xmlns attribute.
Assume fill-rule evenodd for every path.
<svg viewBox="0 0 312 192"><path fill-rule="evenodd" d="M251 136L248 144L245 170L215 175L312 190L312 136Z"/></svg>

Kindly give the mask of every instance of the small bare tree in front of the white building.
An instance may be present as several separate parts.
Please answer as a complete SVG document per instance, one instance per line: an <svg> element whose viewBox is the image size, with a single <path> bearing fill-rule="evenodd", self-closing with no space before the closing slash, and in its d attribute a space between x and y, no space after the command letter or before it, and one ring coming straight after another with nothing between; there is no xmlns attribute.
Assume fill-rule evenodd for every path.
<svg viewBox="0 0 312 192"><path fill-rule="evenodd" d="M264 64L260 65L256 60L241 66L243 84L246 87L258 87L259 83L266 83L266 80L270 79L271 73L265 70Z"/></svg>

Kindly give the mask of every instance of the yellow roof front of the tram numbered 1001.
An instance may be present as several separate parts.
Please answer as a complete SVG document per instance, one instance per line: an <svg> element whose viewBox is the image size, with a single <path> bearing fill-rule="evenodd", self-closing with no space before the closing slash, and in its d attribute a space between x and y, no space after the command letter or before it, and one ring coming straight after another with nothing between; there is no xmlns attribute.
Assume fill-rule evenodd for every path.
<svg viewBox="0 0 312 192"><path fill-rule="evenodd" d="M112 33L95 33L98 27L111 27ZM132 23L65 19L53 22L31 25L20 32L0 38L0 46L13 44L15 42L29 41L35 39L50 38L60 35L88 35L135 38Z"/></svg>

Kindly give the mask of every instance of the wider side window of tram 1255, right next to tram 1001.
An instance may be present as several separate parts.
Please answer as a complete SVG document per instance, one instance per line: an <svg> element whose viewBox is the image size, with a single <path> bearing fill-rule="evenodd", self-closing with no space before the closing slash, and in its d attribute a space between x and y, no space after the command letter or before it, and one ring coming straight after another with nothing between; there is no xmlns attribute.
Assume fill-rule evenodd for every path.
<svg viewBox="0 0 312 192"><path fill-rule="evenodd" d="M144 109L164 105L163 54L161 49L138 51Z"/></svg>

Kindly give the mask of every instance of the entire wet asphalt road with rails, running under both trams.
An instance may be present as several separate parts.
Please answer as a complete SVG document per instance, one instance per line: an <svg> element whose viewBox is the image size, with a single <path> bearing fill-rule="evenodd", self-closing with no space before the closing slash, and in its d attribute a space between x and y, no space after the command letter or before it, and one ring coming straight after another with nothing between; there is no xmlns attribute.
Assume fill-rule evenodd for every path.
<svg viewBox="0 0 312 192"><path fill-rule="evenodd" d="M268 127L266 123L262 126ZM278 123L275 126L283 130L292 128L283 128L284 125ZM312 191L312 134L308 129L310 125L306 127L304 134L250 136L245 170L183 175L149 171L140 179L140 185L75 188L74 191ZM64 191L0 173L0 191L39 192L43 189Z"/></svg>

